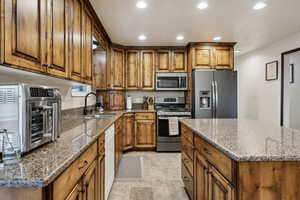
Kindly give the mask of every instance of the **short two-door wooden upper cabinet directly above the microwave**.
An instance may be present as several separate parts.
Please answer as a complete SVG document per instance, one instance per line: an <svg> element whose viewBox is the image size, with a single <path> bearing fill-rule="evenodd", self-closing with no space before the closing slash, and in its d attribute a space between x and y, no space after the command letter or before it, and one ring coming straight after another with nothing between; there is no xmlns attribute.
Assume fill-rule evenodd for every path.
<svg viewBox="0 0 300 200"><path fill-rule="evenodd" d="M158 50L156 72L187 72L185 50Z"/></svg>

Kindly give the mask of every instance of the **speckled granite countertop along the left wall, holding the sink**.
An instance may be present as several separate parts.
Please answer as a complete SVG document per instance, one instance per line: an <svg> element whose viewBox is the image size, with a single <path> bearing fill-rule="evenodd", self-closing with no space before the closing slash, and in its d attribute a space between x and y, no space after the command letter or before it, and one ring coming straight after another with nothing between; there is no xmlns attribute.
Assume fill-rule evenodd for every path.
<svg viewBox="0 0 300 200"><path fill-rule="evenodd" d="M33 150L19 163L0 167L0 187L47 186L124 112L115 113L112 118L79 119L80 123L63 131L57 141Z"/></svg>

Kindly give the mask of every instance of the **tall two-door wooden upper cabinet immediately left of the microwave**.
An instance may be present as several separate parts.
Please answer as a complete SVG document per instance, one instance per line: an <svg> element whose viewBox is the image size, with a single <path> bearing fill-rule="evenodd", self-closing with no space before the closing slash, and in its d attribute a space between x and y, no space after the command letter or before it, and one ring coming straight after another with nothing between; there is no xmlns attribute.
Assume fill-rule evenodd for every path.
<svg viewBox="0 0 300 200"><path fill-rule="evenodd" d="M155 52L152 50L127 50L126 89L155 89Z"/></svg>

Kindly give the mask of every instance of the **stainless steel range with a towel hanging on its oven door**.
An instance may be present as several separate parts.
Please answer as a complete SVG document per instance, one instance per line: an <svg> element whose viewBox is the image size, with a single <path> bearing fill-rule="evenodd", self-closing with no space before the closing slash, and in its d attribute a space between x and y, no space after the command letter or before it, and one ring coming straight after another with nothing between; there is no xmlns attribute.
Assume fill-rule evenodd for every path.
<svg viewBox="0 0 300 200"><path fill-rule="evenodd" d="M177 119L191 118L191 112L185 105L184 97L160 97L155 98L157 110L157 140L156 150L178 152L181 151L180 130ZM175 122L171 122L175 119ZM178 134L170 133L170 122L174 123L173 129L177 128ZM176 127L177 126L177 127Z"/></svg>

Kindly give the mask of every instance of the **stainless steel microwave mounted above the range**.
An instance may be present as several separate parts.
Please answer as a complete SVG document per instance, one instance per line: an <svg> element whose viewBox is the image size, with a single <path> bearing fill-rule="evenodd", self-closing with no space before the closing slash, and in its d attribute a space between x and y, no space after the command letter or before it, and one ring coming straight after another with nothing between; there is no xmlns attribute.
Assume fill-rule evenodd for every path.
<svg viewBox="0 0 300 200"><path fill-rule="evenodd" d="M187 90L187 73L156 73L156 90Z"/></svg>

